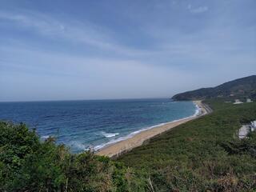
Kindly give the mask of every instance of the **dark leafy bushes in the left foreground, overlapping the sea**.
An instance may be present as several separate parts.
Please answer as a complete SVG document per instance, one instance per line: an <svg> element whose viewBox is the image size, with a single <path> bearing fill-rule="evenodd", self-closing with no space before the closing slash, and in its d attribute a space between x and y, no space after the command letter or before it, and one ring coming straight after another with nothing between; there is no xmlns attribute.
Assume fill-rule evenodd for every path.
<svg viewBox="0 0 256 192"><path fill-rule="evenodd" d="M42 142L24 124L0 122L0 191L130 191L132 174L110 158L70 154L54 138Z"/></svg>

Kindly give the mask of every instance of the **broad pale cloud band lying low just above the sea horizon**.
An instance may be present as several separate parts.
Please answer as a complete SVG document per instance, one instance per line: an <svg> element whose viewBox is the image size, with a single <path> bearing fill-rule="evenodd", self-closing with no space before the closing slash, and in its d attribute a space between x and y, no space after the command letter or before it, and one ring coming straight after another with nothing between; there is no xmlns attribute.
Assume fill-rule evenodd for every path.
<svg viewBox="0 0 256 192"><path fill-rule="evenodd" d="M186 82L182 70L166 70L134 60L76 57L73 55L43 53L22 48L1 47L4 55L14 54L2 66L0 82L6 89L0 100L82 99L82 98L145 98L169 96L170 76ZM16 78L13 78L15 76ZM35 81L36 79L36 81ZM13 89L14 86L18 86ZM155 91L153 87L158 87ZM168 88L169 87L169 88ZM177 84L172 89L180 89ZM54 90L54 91L53 91ZM110 91L111 90L111 91ZM10 97L11 95L11 97ZM31 96L32 95L32 96ZM147 95L147 96L146 96Z"/></svg>

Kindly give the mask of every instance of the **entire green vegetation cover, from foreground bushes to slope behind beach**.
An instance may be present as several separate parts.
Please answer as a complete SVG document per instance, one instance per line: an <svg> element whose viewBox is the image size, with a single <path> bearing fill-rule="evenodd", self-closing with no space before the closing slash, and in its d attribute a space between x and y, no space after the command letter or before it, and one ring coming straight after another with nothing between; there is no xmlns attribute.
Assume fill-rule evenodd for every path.
<svg viewBox="0 0 256 192"><path fill-rule="evenodd" d="M256 103L206 102L212 114L116 160L71 154L24 124L0 122L0 191L255 191L256 133L236 133L256 119Z"/></svg>

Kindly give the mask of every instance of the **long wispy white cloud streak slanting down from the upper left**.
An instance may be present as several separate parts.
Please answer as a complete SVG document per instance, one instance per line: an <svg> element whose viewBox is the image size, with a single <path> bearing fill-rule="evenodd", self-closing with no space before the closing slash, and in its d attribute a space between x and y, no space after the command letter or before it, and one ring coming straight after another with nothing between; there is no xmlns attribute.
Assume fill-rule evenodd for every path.
<svg viewBox="0 0 256 192"><path fill-rule="evenodd" d="M77 43L78 46L86 47L86 49L91 47L98 51L109 51L134 57L152 54L152 51L130 48L118 43L115 41L114 34L111 34L109 30L85 20L82 22L78 20L62 21L31 11L22 14L0 12L1 19L9 21L10 25L30 30L45 38Z"/></svg>

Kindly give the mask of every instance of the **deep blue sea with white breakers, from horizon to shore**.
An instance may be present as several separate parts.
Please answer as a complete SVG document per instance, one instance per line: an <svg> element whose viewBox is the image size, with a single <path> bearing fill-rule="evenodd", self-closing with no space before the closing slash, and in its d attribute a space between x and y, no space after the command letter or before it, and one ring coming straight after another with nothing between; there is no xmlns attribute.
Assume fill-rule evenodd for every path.
<svg viewBox="0 0 256 192"><path fill-rule="evenodd" d="M62 102L0 102L0 120L25 122L41 137L57 138L74 153L118 142L198 113L193 102L167 98Z"/></svg>

